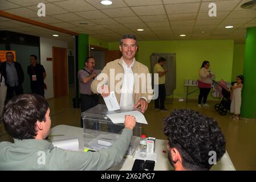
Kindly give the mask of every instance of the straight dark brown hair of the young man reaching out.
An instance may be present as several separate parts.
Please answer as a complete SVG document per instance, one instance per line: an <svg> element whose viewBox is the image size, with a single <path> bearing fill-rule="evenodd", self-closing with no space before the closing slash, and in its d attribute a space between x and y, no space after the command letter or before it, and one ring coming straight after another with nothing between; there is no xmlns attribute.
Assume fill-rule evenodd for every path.
<svg viewBox="0 0 256 182"><path fill-rule="evenodd" d="M34 139L36 121L46 121L47 101L37 94L22 94L12 98L3 109L5 130L15 139Z"/></svg>

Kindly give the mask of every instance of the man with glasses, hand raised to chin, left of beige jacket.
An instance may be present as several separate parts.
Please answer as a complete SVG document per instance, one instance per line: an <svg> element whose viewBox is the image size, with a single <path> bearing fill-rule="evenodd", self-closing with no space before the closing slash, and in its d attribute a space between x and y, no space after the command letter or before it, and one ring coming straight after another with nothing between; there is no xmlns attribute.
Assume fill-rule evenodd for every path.
<svg viewBox="0 0 256 182"><path fill-rule="evenodd" d="M95 59L90 56L86 58L86 61L84 61L84 69L78 71L78 81L81 94L81 112L99 104L99 96L97 94L93 94L91 90L91 83L97 76L94 68ZM83 127L82 119L81 127Z"/></svg>

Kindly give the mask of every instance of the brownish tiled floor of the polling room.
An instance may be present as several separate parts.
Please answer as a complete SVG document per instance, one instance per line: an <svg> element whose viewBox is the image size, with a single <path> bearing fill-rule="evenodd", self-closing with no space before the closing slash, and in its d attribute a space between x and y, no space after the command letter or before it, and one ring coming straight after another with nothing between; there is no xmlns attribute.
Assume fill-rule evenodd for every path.
<svg viewBox="0 0 256 182"><path fill-rule="evenodd" d="M79 126L80 125L80 109L72 108L72 94L68 97L61 97L48 100L51 109L52 127L60 124ZM230 115L221 116L214 110L214 104L217 102L209 102L209 108L198 108L196 101L178 102L174 100L173 104L166 101L166 107L169 110L189 108L198 110L201 113L215 118L226 138L226 150L237 170L256 170L256 121L233 121ZM165 139L162 133L162 119L169 112L155 110L153 102L149 104L149 108L145 113L148 121L147 126L143 126L143 134L148 137L156 137ZM0 142L4 140L12 141L6 134L3 124L0 127Z"/></svg>

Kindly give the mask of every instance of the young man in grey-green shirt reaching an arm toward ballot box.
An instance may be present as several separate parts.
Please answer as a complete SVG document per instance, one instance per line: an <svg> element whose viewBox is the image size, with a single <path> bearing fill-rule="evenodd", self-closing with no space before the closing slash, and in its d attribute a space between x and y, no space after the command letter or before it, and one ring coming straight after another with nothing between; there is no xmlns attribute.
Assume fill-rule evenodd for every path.
<svg viewBox="0 0 256 182"><path fill-rule="evenodd" d="M3 111L5 129L14 143L0 143L0 170L105 170L121 162L132 139L136 119L125 116L124 130L111 147L96 152L67 151L44 140L50 133L47 101L22 94Z"/></svg>

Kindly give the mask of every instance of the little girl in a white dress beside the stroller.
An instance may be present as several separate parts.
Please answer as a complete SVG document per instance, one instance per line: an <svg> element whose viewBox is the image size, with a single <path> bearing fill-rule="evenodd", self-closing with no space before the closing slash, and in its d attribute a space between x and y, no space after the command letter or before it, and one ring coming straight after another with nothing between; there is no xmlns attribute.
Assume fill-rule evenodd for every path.
<svg viewBox="0 0 256 182"><path fill-rule="evenodd" d="M242 88L243 88L243 76L237 76L237 83L231 86L231 106L230 113L233 113L232 118L235 120L239 119L241 102L242 102Z"/></svg>

